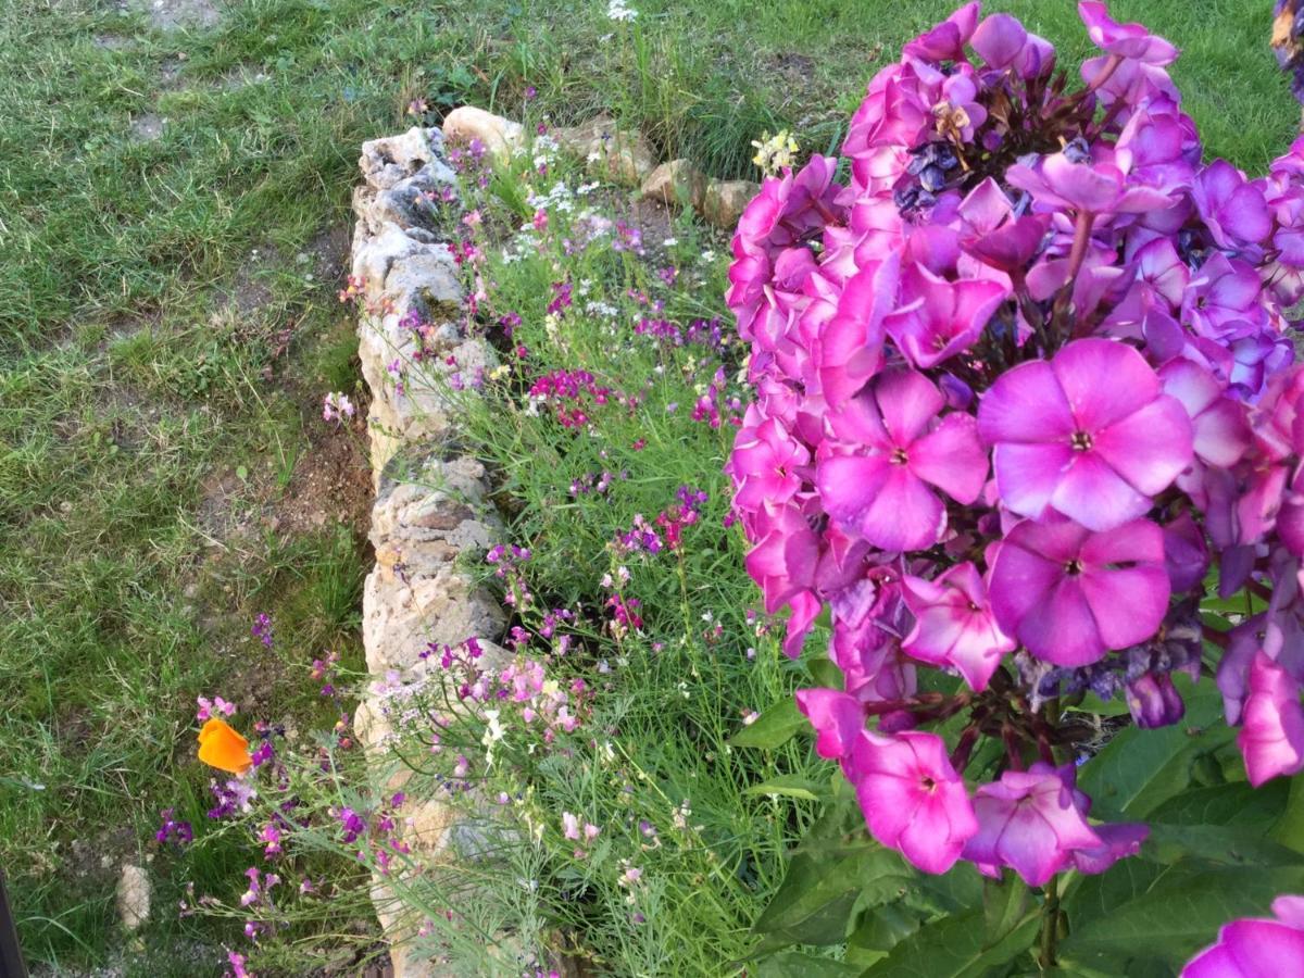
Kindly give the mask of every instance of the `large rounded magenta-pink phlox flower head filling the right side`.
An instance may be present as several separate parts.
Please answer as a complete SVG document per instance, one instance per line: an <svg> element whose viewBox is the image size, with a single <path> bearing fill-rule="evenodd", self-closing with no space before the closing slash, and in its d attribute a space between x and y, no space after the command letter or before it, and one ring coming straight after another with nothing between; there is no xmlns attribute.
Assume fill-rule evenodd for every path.
<svg viewBox="0 0 1304 978"><path fill-rule="evenodd" d="M1082 85L978 3L906 44L844 170L764 183L728 293L747 570L792 656L827 609L844 675L798 695L819 752L917 866L1031 884L1146 835L1089 819L1055 720L1086 691L1163 726L1174 675L1214 673L1249 781L1304 768L1304 140L1262 179L1202 163L1176 50L1078 9ZM1266 599L1230 634L1210 567ZM919 692L921 665L964 685ZM952 748L921 729L957 716ZM983 737L1004 760L970 784Z"/></svg>

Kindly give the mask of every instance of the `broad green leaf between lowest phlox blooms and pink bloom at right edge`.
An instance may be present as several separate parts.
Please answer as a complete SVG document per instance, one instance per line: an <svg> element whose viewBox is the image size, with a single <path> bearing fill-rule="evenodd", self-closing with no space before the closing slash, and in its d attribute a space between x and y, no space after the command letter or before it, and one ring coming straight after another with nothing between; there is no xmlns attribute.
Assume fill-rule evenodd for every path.
<svg viewBox="0 0 1304 978"><path fill-rule="evenodd" d="M1235 732L1222 722L1222 696L1211 683L1193 690L1175 677L1187 702L1181 722L1159 730L1129 726L1082 765L1078 786L1095 802L1093 815L1144 818L1191 785L1196 760L1227 743Z"/></svg>

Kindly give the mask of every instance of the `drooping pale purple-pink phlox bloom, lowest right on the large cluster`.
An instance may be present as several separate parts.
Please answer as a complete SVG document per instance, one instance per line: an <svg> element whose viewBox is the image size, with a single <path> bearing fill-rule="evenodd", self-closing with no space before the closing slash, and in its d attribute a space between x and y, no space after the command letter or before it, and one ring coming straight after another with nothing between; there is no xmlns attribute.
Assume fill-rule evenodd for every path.
<svg viewBox="0 0 1304 978"><path fill-rule="evenodd" d="M1030 887L1045 884L1077 850L1106 846L1074 803L1072 782L1050 764L1007 771L978 789L973 807L978 832L964 857L979 867L1009 866Z"/></svg>

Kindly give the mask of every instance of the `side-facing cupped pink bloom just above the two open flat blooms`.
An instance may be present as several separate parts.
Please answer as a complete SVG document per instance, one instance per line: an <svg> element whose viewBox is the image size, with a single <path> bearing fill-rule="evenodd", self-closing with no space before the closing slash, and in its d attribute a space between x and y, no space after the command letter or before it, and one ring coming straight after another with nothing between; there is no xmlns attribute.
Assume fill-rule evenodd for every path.
<svg viewBox="0 0 1304 978"><path fill-rule="evenodd" d="M922 265L901 275L901 304L883 327L921 370L968 349L1005 301L999 282L948 282Z"/></svg>

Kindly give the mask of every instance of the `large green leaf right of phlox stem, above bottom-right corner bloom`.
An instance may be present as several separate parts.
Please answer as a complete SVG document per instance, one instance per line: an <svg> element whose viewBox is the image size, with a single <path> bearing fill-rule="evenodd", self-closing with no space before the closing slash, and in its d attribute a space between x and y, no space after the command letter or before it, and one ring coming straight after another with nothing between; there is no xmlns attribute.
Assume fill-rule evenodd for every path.
<svg viewBox="0 0 1304 978"><path fill-rule="evenodd" d="M1124 859L1104 875L1140 862ZM1128 895L1125 887L1114 885L1106 913L1080 914L1076 898L1065 901L1069 936L1059 945L1064 962L1110 974L1127 973L1125 965L1133 960L1158 958L1180 968L1213 943L1227 921L1264 914L1278 895L1300 892L1304 866L1210 868L1191 861L1158 875L1149 870L1128 879L1136 888Z"/></svg>

